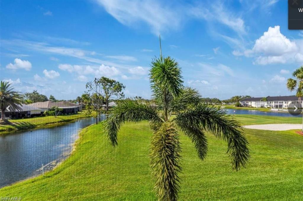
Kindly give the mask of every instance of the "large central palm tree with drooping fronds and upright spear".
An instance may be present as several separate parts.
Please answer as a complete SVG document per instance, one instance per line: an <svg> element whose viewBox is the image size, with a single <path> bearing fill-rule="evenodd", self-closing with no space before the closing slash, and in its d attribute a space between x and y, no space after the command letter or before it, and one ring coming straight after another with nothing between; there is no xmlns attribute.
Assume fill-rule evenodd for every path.
<svg viewBox="0 0 303 201"><path fill-rule="evenodd" d="M245 167L249 150L241 127L218 107L201 103L198 91L182 85L181 69L174 59L163 58L162 55L153 59L150 82L157 107L138 100L121 101L105 121L105 131L112 145L116 146L118 130L123 122L150 122L153 131L151 169L158 200L178 199L178 174L182 170L179 131L191 139L201 160L206 157L208 147L205 133L211 132L228 143L232 169Z"/></svg>

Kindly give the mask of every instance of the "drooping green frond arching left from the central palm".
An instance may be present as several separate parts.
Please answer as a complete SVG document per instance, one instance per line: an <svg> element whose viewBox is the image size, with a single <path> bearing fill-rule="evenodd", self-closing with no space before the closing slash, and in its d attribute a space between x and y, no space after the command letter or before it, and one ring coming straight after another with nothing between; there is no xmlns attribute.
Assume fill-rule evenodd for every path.
<svg viewBox="0 0 303 201"><path fill-rule="evenodd" d="M158 116L157 111L142 102L134 100L125 100L118 103L112 113L105 120L105 130L108 137L115 146L117 142L117 133L120 125L125 121L142 121L161 122L163 119Z"/></svg>

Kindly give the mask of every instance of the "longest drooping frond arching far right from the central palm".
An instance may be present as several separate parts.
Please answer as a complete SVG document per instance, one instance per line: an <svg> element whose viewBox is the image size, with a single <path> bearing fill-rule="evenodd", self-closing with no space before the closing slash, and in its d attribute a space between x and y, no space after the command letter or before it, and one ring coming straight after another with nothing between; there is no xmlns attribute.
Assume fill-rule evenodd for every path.
<svg viewBox="0 0 303 201"><path fill-rule="evenodd" d="M178 114L175 121L187 127L203 128L228 143L227 153L232 168L245 167L249 155L248 141L241 132L241 126L226 112L215 106L205 104L194 105Z"/></svg>

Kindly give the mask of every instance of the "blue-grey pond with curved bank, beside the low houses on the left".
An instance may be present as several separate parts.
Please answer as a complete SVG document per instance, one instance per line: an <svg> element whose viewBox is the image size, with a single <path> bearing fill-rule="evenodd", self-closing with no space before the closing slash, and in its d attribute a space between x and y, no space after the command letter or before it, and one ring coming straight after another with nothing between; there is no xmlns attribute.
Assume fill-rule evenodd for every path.
<svg viewBox="0 0 303 201"><path fill-rule="evenodd" d="M78 132L94 123L86 118L0 136L0 188L42 174L42 164L43 171L53 169L70 155Z"/></svg>

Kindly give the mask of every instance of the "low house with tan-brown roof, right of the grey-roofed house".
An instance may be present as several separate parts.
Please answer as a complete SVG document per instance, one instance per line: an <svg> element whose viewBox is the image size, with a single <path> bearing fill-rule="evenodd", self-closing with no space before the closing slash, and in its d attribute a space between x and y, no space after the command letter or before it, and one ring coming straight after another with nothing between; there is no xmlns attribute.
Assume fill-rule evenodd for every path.
<svg viewBox="0 0 303 201"><path fill-rule="evenodd" d="M62 108L63 114L69 114L69 113L77 113L80 110L80 106L78 104L68 102L68 101L60 101L60 102L52 102L52 101L45 101L45 102L35 102L32 104L29 104L29 106L34 106L39 109L41 109L42 112L45 110L49 110L52 107L58 107Z"/></svg>

